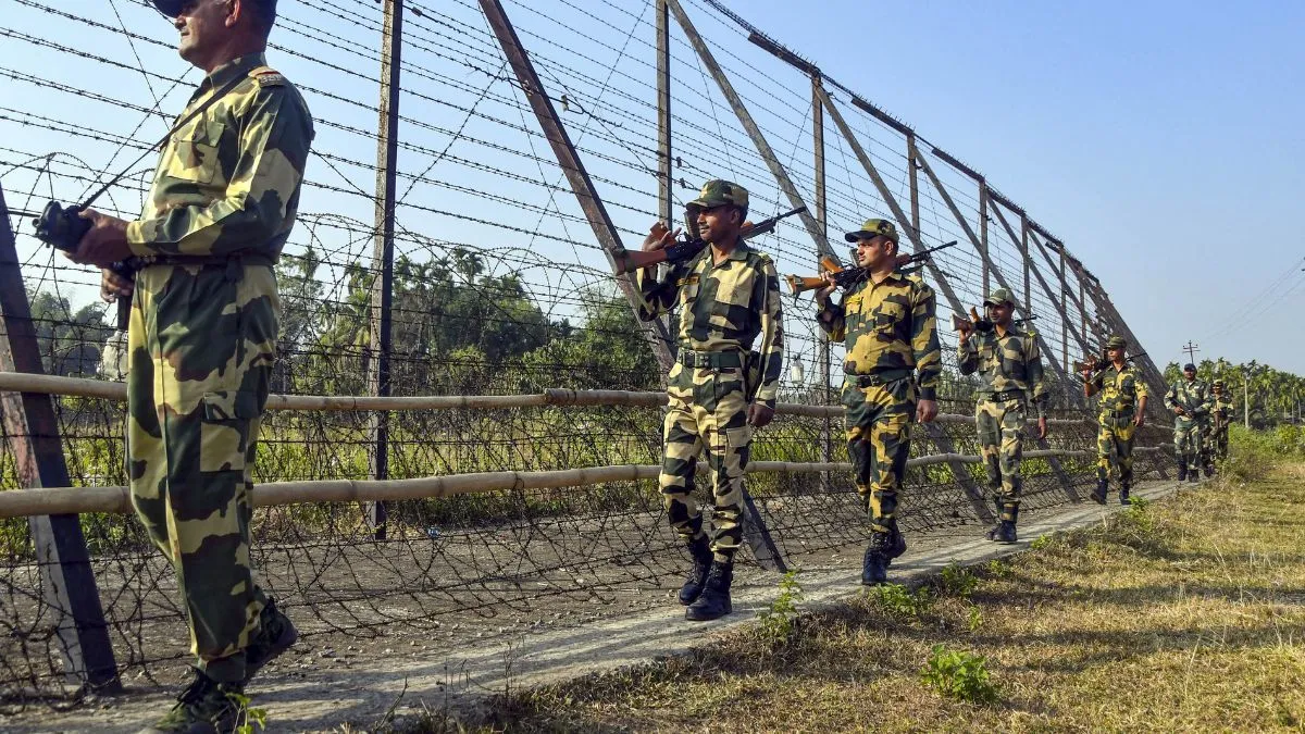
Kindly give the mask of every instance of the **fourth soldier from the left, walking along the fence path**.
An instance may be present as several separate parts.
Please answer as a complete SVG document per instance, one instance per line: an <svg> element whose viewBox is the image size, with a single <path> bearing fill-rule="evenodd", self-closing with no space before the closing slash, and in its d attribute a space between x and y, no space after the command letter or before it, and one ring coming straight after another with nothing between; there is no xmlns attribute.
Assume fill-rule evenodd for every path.
<svg viewBox="0 0 1305 734"><path fill-rule="evenodd" d="M1047 384L1037 336L1031 329L1019 330L1011 320L1015 312L1011 293L997 289L983 303L990 323L958 324L957 363L962 375L977 370L983 377L975 418L988 487L1001 513L988 539L1013 543L1023 487L1019 462L1024 452L1026 405L1032 398L1037 410L1037 438L1047 438Z"/></svg>

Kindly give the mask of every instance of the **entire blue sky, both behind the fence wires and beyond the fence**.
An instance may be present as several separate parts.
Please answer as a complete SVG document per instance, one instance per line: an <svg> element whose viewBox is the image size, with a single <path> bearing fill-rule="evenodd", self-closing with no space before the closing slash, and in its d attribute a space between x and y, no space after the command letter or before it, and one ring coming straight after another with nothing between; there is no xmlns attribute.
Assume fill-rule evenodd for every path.
<svg viewBox="0 0 1305 734"><path fill-rule="evenodd" d="M752 47L701 0L683 0L709 44L766 131L776 155L810 191L810 119L806 80ZM80 86L138 110L16 80L0 72L0 183L10 206L43 197L77 199L86 188L67 175L116 168L119 136L137 145L166 131L198 73L176 57L175 31L134 0L0 0L0 26L85 48L114 61L87 60L13 35L0 37L8 72ZM423 7L424 4L418 4ZM626 246L637 246L656 210L651 103L651 18L647 3L557 0L505 3L545 88L568 93L568 129L582 150ZM119 27L149 40L51 14L44 8ZM1305 374L1296 316L1305 306L1305 235L1291 219L1305 193L1305 4L1262 3L732 3L746 20L839 82L910 123L924 138L985 174L989 182L1064 239L1098 274L1114 303L1161 366L1197 341L1198 357L1258 359ZM556 163L471 0L425 5L408 18L402 111L410 118L401 150L401 227L412 232L399 249L431 256L448 243L500 255L499 272L519 272L564 315L579 289L611 282L592 234L578 218ZM338 261L371 249L365 229L375 185L375 26L371 0L283 0L283 22L269 56L305 90L318 119L315 157L290 251L313 243ZM57 30L57 33L56 33ZM737 121L720 101L684 35L675 29L675 154L686 182L683 202L702 179L723 176L753 191L756 217L787 209ZM140 59L140 61L137 61ZM115 65L116 64L116 65ZM172 85L138 69L184 81ZM495 78L497 77L497 78ZM487 93L488 94L483 94ZM902 142L895 133L834 94L864 135L890 188L906 201ZM37 106L39 99L40 104ZM17 110L17 112L14 112ZM467 112L471 110L474 112ZM61 125L43 131L39 112ZM145 124L142 125L142 120ZM87 131L78 135L78 131ZM463 137L454 138L453 132ZM719 136L723 142L716 142ZM846 144L826 133L830 230L855 229L886 213ZM65 176L10 168L23 154L63 152ZM442 155L441 155L442 153ZM76 159L73 159L76 157ZM111 165L111 161L114 162ZM146 176L153 158L136 180ZM974 185L934 159L958 204L976 222ZM544 185L542 185L544 184ZM39 191L38 196L26 196ZM837 201L835 201L837 199ZM962 300L977 303L979 265L972 248L932 193L924 196L928 244L962 239L940 257ZM115 189L111 201L130 214L140 192ZM1292 206L1292 204L1297 204ZM561 212L562 215L559 215ZM347 219L341 219L346 217ZM998 225L992 225L993 236ZM783 272L810 270L810 240L786 225L761 244ZM835 243L835 247L842 247ZM994 243L998 263L1018 279L1021 264ZM35 263L35 243L20 238ZM562 265L562 266L559 266ZM1293 269L1295 265L1295 269ZM1287 276L1283 278L1283 276ZM89 274L64 273L89 282ZM1274 286L1266 290L1266 286ZM1292 290L1295 287L1295 290ZM335 294L338 295L338 294ZM1262 295L1257 302L1253 296ZM329 294L330 296L330 294ZM89 296L87 296L89 298ZM74 298L76 300L76 298ZM1034 294L1035 311L1047 299ZM792 353L810 358L809 312L786 306ZM1249 313L1245 323L1233 316ZM1060 343L1054 324L1039 321ZM945 334L945 342L947 341ZM1070 341L1071 357L1079 351Z"/></svg>

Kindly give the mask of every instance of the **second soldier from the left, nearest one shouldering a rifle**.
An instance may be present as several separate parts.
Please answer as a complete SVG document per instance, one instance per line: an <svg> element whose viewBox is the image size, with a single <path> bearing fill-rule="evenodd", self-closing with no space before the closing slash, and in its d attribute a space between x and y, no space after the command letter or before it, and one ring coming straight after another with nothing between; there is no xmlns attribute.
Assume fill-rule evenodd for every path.
<svg viewBox="0 0 1305 734"><path fill-rule="evenodd" d="M685 619L701 622L733 611L729 585L743 541L744 471L753 430L765 427L775 414L784 338L775 265L739 236L748 218L748 191L710 180L685 206L710 247L671 266L664 278L645 268L634 279L643 300L642 320L680 304L679 353L667 376L666 456L658 482L671 526L693 556L680 603L689 607ZM658 222L643 249L662 249L677 234ZM710 543L702 511L690 494L703 448L715 505Z"/></svg>

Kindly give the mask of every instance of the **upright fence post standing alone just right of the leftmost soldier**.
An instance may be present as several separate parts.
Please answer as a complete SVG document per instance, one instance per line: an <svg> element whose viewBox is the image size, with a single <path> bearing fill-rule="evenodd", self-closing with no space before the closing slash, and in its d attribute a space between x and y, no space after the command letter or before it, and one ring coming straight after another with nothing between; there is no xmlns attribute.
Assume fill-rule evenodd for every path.
<svg viewBox="0 0 1305 734"><path fill-rule="evenodd" d="M367 360L367 387L376 397L390 394L392 319L394 307L394 189L399 144L399 65L403 51L403 0L385 0L381 30L381 103L376 129L376 243L372 249L372 307L369 310L373 358ZM369 479L390 478L390 415L371 414L372 457ZM386 534L384 502L365 505L367 522L377 541Z"/></svg>

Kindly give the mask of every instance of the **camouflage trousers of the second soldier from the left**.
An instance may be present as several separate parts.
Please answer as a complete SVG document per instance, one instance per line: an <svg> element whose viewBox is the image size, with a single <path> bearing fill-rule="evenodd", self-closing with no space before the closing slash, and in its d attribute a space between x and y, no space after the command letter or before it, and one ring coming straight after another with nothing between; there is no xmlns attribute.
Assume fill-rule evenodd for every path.
<svg viewBox="0 0 1305 734"><path fill-rule="evenodd" d="M666 455L658 477L667 519L685 543L705 537L702 508L692 494L705 448L715 508L711 551L729 563L743 542L744 471L752 443L744 371L676 364L667 376L667 397Z"/></svg>

